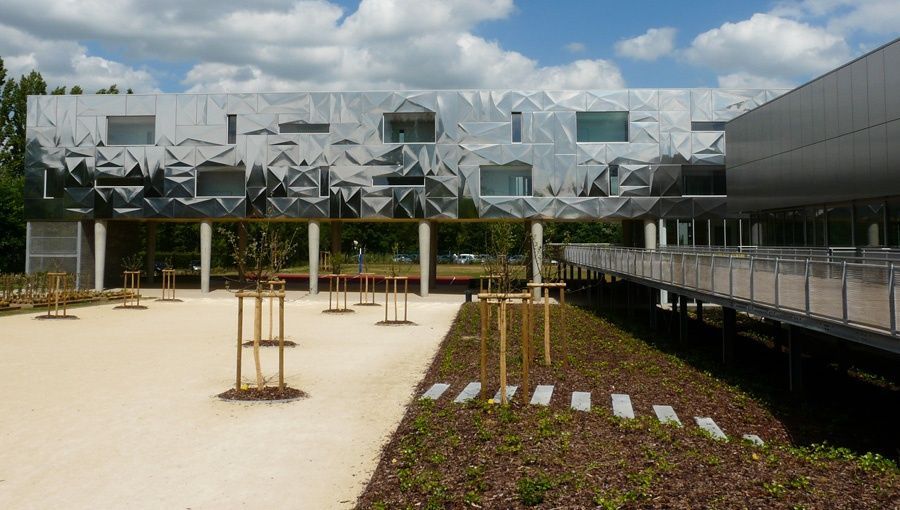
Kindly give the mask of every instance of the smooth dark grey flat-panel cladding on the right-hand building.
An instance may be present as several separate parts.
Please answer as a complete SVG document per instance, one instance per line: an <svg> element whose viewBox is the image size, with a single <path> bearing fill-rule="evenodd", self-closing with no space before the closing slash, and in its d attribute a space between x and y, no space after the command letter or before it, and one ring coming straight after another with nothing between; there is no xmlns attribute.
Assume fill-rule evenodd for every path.
<svg viewBox="0 0 900 510"><path fill-rule="evenodd" d="M898 194L898 125L900 40L727 124L729 214Z"/></svg>

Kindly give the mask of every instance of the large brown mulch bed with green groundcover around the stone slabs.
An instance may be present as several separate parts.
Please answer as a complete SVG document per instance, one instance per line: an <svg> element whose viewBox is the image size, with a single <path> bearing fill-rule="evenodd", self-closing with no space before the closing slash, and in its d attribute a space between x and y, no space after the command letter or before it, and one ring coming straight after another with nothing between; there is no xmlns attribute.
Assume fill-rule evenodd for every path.
<svg viewBox="0 0 900 510"><path fill-rule="evenodd" d="M509 320L509 384L520 383L518 311ZM415 395L437 382L450 389L410 405L358 507L898 508L896 465L793 446L749 395L587 312L567 308L567 367L556 358L538 364L543 319L535 311L527 398L520 388L508 407L459 405L456 394L479 379L479 312L463 305ZM496 337L489 345L490 397L499 387ZM536 384L555 386L549 407L525 403ZM591 392L591 412L569 409L572 391ZM637 419L615 418L611 393L629 394ZM684 427L661 425L654 404L673 406ZM694 416L712 417L731 440L706 436ZM767 446L741 441L745 433Z"/></svg>

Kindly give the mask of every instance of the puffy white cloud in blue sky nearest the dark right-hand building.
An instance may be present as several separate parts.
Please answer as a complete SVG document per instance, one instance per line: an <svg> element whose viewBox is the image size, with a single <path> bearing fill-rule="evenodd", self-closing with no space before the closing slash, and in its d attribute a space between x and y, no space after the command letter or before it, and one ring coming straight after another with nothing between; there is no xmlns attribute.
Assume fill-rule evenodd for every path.
<svg viewBox="0 0 900 510"><path fill-rule="evenodd" d="M758 13L698 35L683 56L715 71L720 84L788 84L843 64L851 52L843 37L825 28Z"/></svg>

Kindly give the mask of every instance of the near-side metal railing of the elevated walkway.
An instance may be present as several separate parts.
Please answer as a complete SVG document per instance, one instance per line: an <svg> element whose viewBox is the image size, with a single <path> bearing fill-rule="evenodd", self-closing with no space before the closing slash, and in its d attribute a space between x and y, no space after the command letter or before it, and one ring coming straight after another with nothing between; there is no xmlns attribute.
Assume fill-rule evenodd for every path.
<svg viewBox="0 0 900 510"><path fill-rule="evenodd" d="M894 262L561 245L563 261L897 336Z"/></svg>

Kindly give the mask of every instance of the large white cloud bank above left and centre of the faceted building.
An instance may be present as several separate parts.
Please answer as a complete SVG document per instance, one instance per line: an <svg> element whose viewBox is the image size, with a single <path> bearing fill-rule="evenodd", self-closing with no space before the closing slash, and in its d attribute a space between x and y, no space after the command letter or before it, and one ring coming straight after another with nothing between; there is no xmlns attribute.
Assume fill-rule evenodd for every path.
<svg viewBox="0 0 900 510"><path fill-rule="evenodd" d="M3 28L17 27L35 40L80 48L69 51L82 58L60 78L86 82L99 71L136 90L156 82L140 69L87 60L97 57L76 41L115 44L129 59L196 62L182 80L191 91L624 86L610 61L542 66L474 34L479 23L509 16L512 0L362 0L352 12L328 0L139 3L7 0L0 4L0 55L29 54L4 48ZM39 57L43 73L49 55Z"/></svg>

